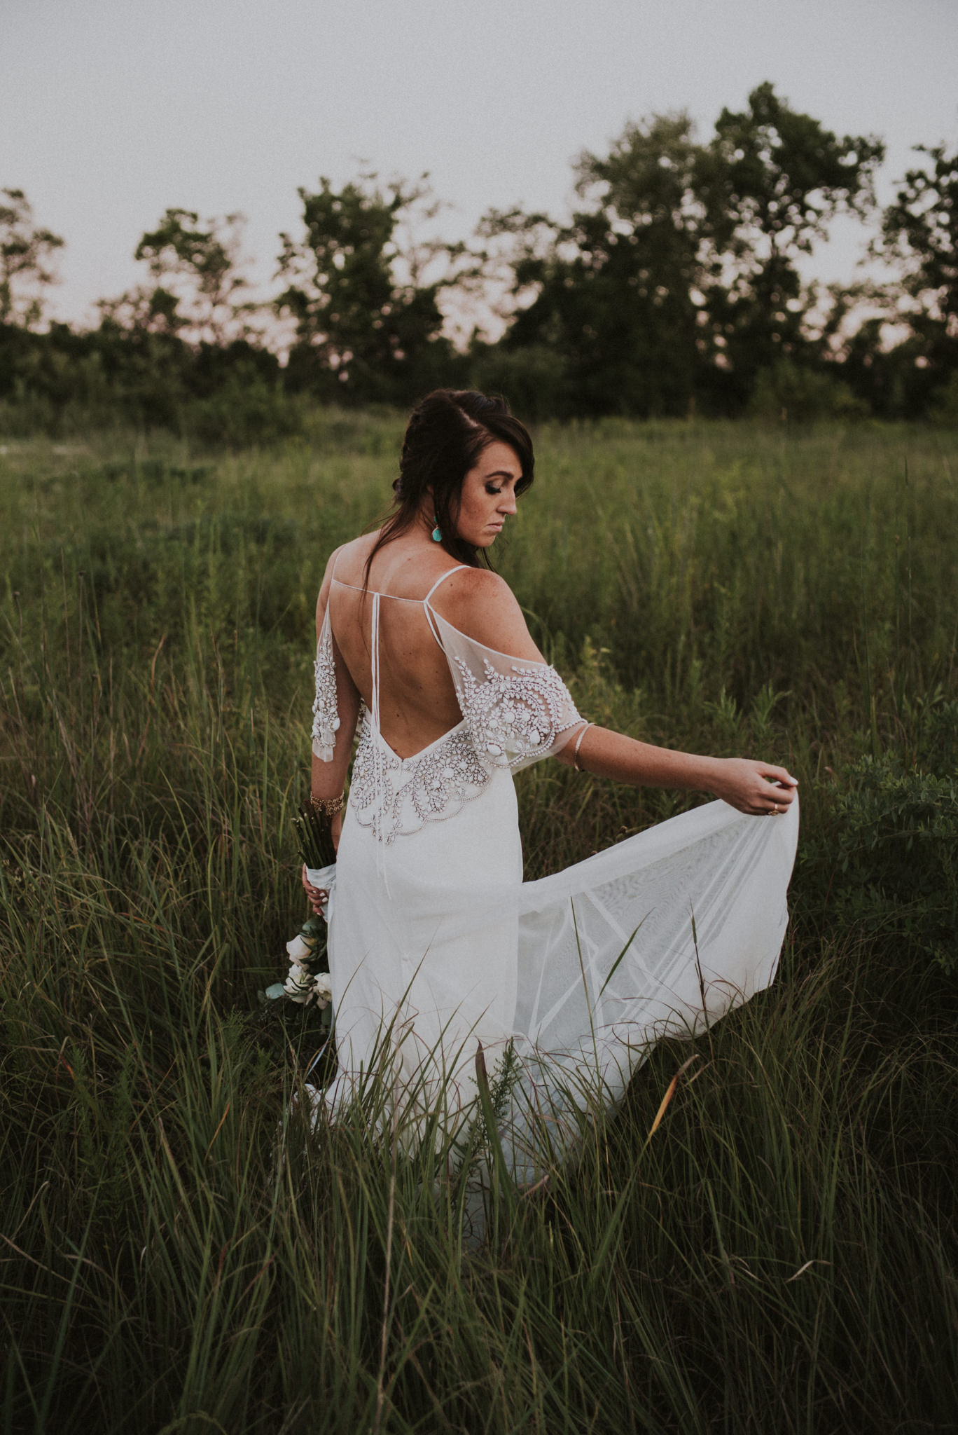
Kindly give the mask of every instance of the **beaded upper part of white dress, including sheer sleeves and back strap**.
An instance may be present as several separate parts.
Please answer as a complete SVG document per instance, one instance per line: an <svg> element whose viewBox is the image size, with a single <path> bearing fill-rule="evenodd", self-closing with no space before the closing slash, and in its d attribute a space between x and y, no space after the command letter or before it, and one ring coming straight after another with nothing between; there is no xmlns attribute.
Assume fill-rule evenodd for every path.
<svg viewBox="0 0 958 1435"><path fill-rule="evenodd" d="M373 603L374 651L380 597L374 594ZM496 768L515 771L538 762L562 748L582 725L568 687L548 663L498 653L455 629L432 608L429 598L423 607L449 663L463 720L423 752L400 759L379 732L377 713L363 706L350 809L381 842L412 835L426 822L447 821L483 792ZM377 664L374 673L376 669ZM374 677L374 705L376 683ZM327 607L317 644L313 703L313 752L324 762L333 759L338 726Z"/></svg>

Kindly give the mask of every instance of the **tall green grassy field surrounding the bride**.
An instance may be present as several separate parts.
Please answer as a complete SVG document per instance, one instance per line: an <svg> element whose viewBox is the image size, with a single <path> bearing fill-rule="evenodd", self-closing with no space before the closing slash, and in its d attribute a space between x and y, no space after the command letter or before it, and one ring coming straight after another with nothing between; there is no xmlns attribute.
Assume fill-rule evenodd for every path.
<svg viewBox="0 0 958 1435"><path fill-rule="evenodd" d="M476 1250L432 1152L310 1138L310 1030L255 1019L316 590L400 432L0 449L3 1431L952 1431L958 436L538 435L498 565L581 709L786 762L805 829L776 986ZM519 796L529 877L688 801Z"/></svg>

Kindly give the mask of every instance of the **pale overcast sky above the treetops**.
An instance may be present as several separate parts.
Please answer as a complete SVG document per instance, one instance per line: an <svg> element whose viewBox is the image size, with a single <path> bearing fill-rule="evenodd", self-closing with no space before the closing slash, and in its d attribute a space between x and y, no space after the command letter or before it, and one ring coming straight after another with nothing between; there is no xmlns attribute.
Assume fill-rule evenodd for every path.
<svg viewBox="0 0 958 1435"><path fill-rule="evenodd" d="M490 205L561 214L569 161L628 119L772 80L889 146L958 141L958 0L0 0L0 187L62 234L57 317L136 278L168 205L242 211L267 281L297 185L429 171L460 237ZM850 278L840 232L817 268Z"/></svg>

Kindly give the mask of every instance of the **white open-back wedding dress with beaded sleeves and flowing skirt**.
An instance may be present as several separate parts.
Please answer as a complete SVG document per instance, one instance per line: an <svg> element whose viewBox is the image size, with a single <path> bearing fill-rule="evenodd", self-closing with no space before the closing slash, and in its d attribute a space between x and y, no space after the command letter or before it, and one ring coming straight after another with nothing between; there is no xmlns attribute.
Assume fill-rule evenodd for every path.
<svg viewBox="0 0 958 1435"><path fill-rule="evenodd" d="M450 1131L476 1111L478 1043L493 1088L509 1050L499 1135L529 1184L574 1147L595 1101L618 1101L655 1040L701 1030L772 982L797 802L773 821L710 802L523 883L512 773L559 751L584 719L554 667L452 627L432 601L439 583L416 603L462 722L406 759L380 733L380 613L413 600L369 591L371 705L334 881L313 874L333 888L338 1055L316 1099L336 1119L376 1069L407 1132L436 1104ZM313 751L324 761L338 729L331 608L316 660Z"/></svg>

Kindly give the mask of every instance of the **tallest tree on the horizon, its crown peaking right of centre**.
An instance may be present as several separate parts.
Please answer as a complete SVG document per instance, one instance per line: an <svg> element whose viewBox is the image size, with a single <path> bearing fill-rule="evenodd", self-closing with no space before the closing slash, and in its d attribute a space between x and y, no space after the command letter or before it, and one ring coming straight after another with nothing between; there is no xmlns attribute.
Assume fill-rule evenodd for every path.
<svg viewBox="0 0 958 1435"><path fill-rule="evenodd" d="M707 309L740 400L759 369L809 350L815 296L796 261L827 237L836 215L871 214L883 154L875 136L839 139L767 82L746 110L718 116L694 185L711 248Z"/></svg>

